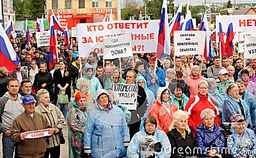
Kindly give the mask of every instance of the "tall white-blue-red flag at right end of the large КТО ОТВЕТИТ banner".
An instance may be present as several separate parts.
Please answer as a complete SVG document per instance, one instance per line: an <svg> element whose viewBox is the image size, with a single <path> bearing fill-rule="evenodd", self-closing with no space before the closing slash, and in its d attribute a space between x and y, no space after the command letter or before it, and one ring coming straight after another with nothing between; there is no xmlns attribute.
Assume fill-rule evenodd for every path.
<svg viewBox="0 0 256 158"><path fill-rule="evenodd" d="M156 57L160 59L168 55L170 55L170 29L167 16L167 2L164 0L158 32Z"/></svg>

